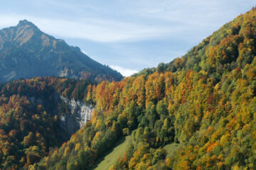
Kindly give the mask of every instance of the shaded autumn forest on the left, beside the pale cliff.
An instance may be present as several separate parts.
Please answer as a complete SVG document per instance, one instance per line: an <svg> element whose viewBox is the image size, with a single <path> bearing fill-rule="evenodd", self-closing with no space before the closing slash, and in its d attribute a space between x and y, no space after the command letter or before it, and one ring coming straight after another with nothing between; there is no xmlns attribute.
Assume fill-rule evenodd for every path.
<svg viewBox="0 0 256 170"><path fill-rule="evenodd" d="M92 86L90 81L78 85L72 79L55 78L1 84L0 169L27 168L45 157L51 147L69 140L59 117L70 111L58 95L82 100L88 84Z"/></svg>

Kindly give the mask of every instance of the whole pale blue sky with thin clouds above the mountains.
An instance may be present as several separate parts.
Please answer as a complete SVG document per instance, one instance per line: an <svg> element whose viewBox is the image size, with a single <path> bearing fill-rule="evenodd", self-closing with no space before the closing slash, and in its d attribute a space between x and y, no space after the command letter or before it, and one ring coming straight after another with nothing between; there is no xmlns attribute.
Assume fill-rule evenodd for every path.
<svg viewBox="0 0 256 170"><path fill-rule="evenodd" d="M181 57L256 0L11 0L0 28L27 19L124 76Z"/></svg>

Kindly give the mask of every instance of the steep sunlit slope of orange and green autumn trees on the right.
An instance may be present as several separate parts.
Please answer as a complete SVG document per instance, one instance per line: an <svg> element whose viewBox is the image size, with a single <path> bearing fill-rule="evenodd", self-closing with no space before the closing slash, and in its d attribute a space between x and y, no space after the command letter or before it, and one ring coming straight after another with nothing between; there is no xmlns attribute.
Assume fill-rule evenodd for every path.
<svg viewBox="0 0 256 170"><path fill-rule="evenodd" d="M98 84L91 121L29 169L87 169L132 130L112 169L256 169L255 18L252 8L170 64ZM182 147L168 156L172 142Z"/></svg>

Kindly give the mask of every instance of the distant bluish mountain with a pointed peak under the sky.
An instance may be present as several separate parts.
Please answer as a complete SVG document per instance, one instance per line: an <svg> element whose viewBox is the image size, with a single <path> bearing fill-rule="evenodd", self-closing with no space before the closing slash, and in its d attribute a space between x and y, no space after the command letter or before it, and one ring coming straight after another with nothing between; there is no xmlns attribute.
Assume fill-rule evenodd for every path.
<svg viewBox="0 0 256 170"><path fill-rule="evenodd" d="M90 59L79 47L69 46L19 21L0 30L0 82L31 77L68 77L95 81L119 81L122 75Z"/></svg>

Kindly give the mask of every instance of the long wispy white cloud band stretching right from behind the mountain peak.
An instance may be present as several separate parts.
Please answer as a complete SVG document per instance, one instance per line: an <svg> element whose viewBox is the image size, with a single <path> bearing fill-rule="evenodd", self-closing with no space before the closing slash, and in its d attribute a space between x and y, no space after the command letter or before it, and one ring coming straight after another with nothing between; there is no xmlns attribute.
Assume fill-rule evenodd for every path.
<svg viewBox="0 0 256 170"><path fill-rule="evenodd" d="M181 28L170 29L167 26L151 26L141 23L103 20L101 18L83 18L70 21L53 18L40 18L21 15L0 15L0 27L14 26L19 20L27 19L44 32L64 38L80 38L96 42L120 42L148 40L165 37L166 34L180 31Z"/></svg>

